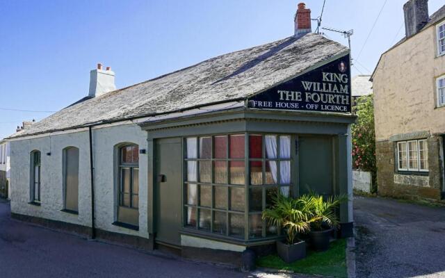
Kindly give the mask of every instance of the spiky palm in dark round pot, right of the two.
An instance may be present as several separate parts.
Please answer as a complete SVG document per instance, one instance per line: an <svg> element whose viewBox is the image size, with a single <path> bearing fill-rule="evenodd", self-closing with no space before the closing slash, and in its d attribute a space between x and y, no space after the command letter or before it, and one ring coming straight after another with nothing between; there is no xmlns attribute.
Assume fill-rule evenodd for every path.
<svg viewBox="0 0 445 278"><path fill-rule="evenodd" d="M316 251L328 250L332 229L339 224L335 208L348 197L331 196L324 200L322 195L310 193L302 195L299 199L309 211L311 219L309 238L312 248Z"/></svg>

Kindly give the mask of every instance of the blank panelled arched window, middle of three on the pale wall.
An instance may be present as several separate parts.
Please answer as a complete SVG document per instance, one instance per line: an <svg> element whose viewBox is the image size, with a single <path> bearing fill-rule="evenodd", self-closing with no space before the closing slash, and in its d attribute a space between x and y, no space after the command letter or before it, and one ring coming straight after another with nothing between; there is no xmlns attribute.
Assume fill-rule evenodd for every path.
<svg viewBox="0 0 445 278"><path fill-rule="evenodd" d="M63 191L64 210L70 213L79 211L79 149L63 149Z"/></svg>

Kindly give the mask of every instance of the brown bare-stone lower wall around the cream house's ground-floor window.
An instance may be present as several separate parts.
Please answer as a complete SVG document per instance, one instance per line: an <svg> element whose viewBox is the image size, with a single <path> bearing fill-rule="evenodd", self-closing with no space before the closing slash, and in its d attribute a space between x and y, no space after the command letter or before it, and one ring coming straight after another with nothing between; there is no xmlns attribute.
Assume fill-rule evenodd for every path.
<svg viewBox="0 0 445 278"><path fill-rule="evenodd" d="M396 172L395 143L376 143L378 194L410 199L440 199L442 188L442 161L439 158L439 137L428 138L427 176L401 174Z"/></svg>

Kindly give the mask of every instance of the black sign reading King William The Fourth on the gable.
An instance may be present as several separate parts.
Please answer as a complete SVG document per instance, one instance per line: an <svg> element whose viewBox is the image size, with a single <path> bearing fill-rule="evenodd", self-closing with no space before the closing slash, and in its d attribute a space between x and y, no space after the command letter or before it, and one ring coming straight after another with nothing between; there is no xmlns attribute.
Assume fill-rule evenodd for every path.
<svg viewBox="0 0 445 278"><path fill-rule="evenodd" d="M251 97L248 107L350 113L350 63L343 56Z"/></svg>

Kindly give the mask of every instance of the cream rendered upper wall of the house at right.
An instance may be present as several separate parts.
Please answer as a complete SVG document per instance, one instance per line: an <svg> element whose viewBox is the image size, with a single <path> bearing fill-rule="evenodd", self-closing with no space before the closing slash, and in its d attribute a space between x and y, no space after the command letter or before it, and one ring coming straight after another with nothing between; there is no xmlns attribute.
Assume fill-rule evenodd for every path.
<svg viewBox="0 0 445 278"><path fill-rule="evenodd" d="M436 108L436 77L445 74L437 56L436 26L383 54L373 77L375 137L445 132L445 107Z"/></svg>

